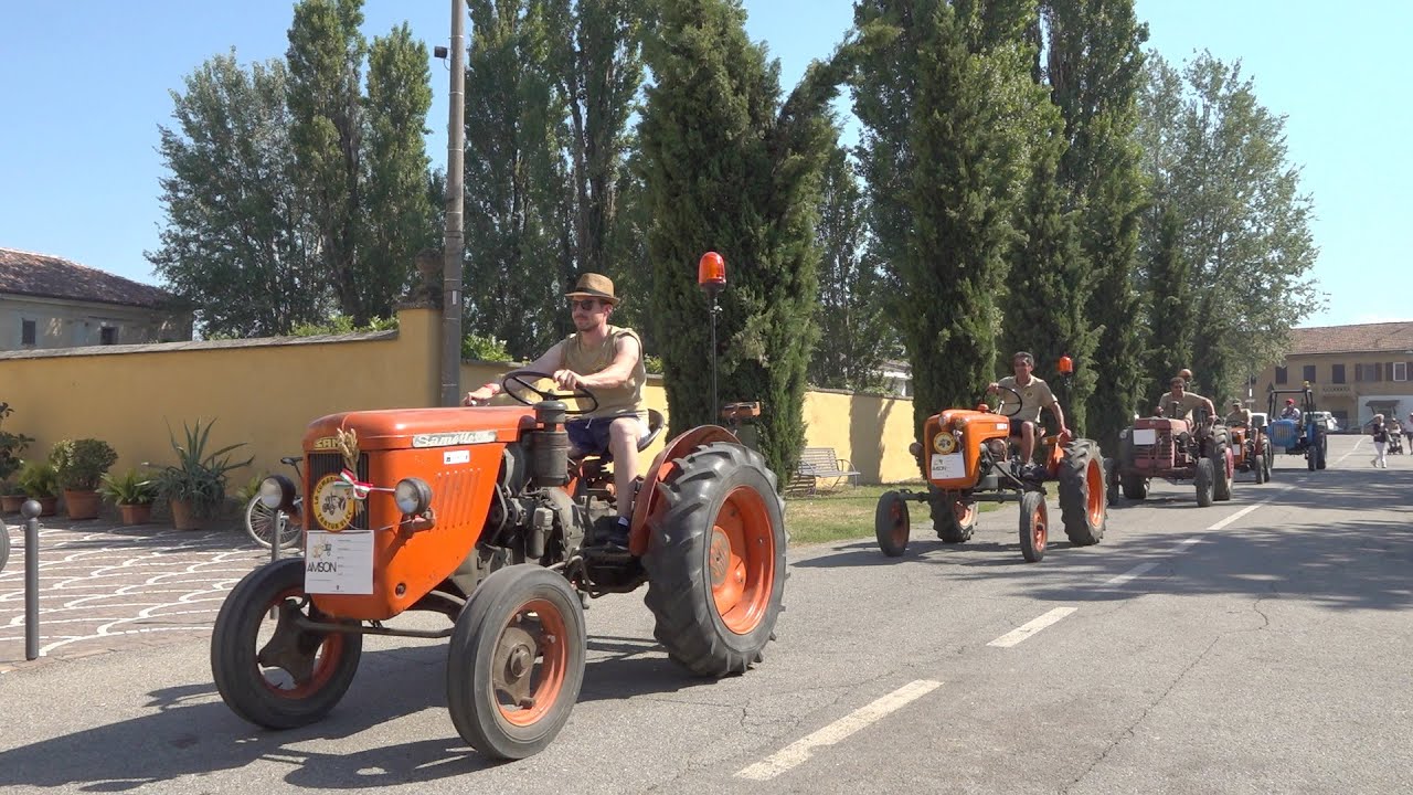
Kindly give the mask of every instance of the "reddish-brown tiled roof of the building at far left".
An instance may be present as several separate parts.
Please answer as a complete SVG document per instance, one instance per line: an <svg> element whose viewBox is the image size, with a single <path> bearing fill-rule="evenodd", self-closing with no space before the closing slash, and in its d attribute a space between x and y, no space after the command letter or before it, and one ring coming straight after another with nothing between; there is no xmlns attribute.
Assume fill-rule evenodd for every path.
<svg viewBox="0 0 1413 795"><path fill-rule="evenodd" d="M151 284L64 257L4 248L0 248L0 293L134 307L158 307L172 300Z"/></svg>

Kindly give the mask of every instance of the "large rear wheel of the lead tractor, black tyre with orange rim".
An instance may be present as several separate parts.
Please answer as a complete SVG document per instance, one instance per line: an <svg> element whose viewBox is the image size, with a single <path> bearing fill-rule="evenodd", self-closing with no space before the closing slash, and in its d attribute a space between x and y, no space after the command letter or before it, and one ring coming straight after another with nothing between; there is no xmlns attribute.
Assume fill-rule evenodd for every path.
<svg viewBox="0 0 1413 795"><path fill-rule="evenodd" d="M764 656L786 587L784 508L755 450L698 447L658 484L643 556L653 637L699 676L742 673Z"/></svg>

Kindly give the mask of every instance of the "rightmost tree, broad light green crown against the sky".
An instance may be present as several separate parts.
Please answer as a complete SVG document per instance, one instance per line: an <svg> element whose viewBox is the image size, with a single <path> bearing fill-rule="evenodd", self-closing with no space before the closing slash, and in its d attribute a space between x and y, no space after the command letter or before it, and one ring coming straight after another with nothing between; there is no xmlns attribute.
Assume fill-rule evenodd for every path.
<svg viewBox="0 0 1413 795"><path fill-rule="evenodd" d="M1279 361L1290 328L1323 303L1308 279L1313 202L1287 161L1284 124L1256 100L1239 62L1202 52L1178 74L1152 61L1143 167L1156 207L1181 219L1177 248L1191 267L1194 301L1191 369L1218 400ZM1160 218L1147 225L1152 249L1160 248Z"/></svg>

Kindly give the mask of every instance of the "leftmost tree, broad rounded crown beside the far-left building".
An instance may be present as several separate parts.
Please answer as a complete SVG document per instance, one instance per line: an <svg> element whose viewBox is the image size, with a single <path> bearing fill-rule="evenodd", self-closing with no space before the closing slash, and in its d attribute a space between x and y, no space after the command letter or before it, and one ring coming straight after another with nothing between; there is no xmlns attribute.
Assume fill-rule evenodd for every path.
<svg viewBox="0 0 1413 795"><path fill-rule="evenodd" d="M285 68L218 55L171 92L160 127L165 225L147 252L205 337L263 337L329 310L328 279L290 144Z"/></svg>

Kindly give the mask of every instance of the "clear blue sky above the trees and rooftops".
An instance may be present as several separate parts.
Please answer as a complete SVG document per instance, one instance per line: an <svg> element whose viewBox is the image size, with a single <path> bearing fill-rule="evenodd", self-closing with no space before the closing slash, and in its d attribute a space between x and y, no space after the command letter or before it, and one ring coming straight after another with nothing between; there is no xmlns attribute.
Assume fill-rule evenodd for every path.
<svg viewBox="0 0 1413 795"><path fill-rule="evenodd" d="M0 246L64 256L155 283L144 250L162 224L157 126L168 92L206 58L284 54L291 0L23 3L0 0ZM793 86L852 20L848 0L746 0L750 35ZM367 0L365 34L407 20L445 44L447 0ZM1306 325L1413 320L1413 274L1396 236L1413 185L1400 55L1413 3L1139 0L1149 47L1171 62L1211 50L1241 59L1260 102L1287 116L1291 163L1314 197L1314 277L1328 308ZM432 62L428 153L447 157L448 74Z"/></svg>

